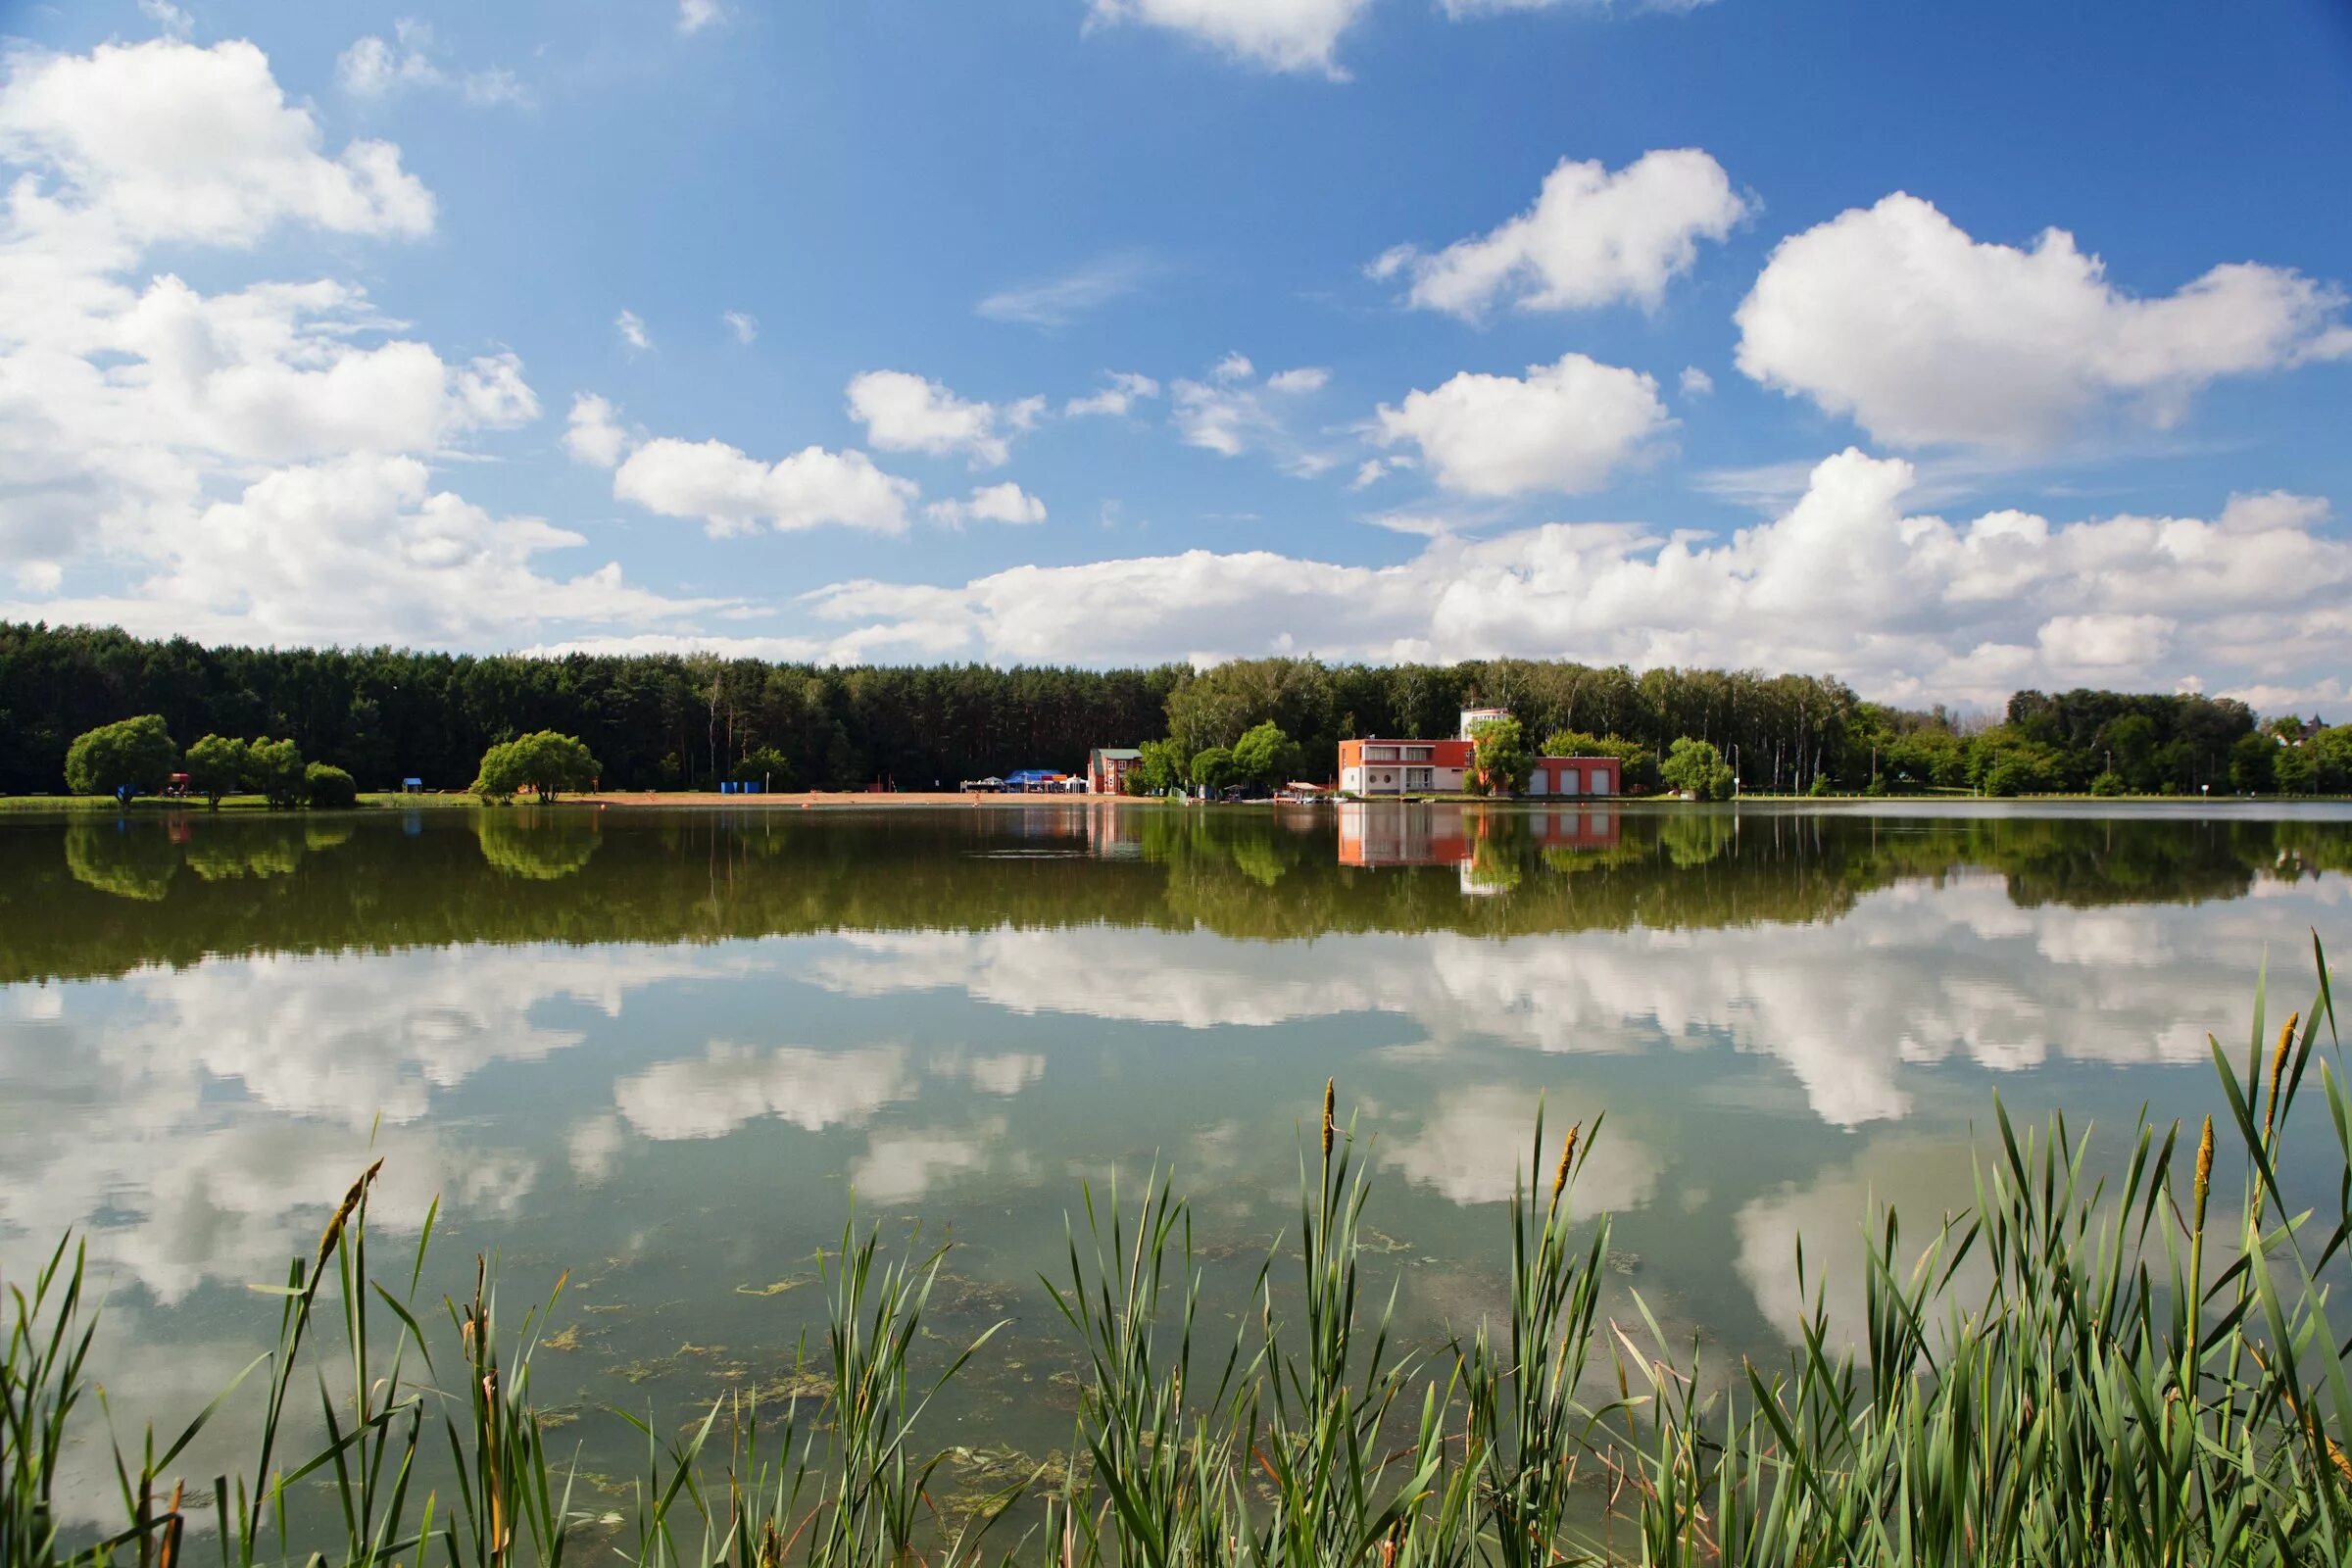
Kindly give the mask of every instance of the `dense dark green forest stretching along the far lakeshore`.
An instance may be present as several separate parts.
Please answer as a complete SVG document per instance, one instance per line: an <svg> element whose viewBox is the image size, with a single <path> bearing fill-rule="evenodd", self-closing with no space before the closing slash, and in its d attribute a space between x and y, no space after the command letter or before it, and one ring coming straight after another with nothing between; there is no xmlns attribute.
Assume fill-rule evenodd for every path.
<svg viewBox="0 0 2352 1568"><path fill-rule="evenodd" d="M2023 691L2002 722L1860 701L1837 679L1595 668L1494 658L1456 665L1235 661L1209 670L783 665L696 654L522 658L412 649L238 649L113 628L0 623L0 795L66 788L87 729L162 715L186 748L207 733L292 738L365 790L423 778L461 790L482 752L553 729L588 743L602 785L955 785L1021 766L1077 771L1096 745L1169 738L1178 755L1275 722L1308 778L1348 736L1444 736L1463 705L1519 715L1529 741L1613 736L1663 757L1717 745L1748 792L1769 790L2340 790L2352 726L2298 759L2230 698ZM2293 729L2305 741L2303 726ZM2307 766L2300 766L2307 764Z"/></svg>

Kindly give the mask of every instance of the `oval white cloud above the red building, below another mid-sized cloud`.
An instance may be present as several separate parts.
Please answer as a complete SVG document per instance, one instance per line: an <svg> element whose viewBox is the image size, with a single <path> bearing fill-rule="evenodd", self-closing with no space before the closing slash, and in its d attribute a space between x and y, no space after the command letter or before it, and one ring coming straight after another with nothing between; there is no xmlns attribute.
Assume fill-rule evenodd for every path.
<svg viewBox="0 0 2352 1568"><path fill-rule="evenodd" d="M1383 440L1416 444L1439 484L1472 496L1599 489L1670 423L1656 381L1576 353L1524 381L1463 371L1383 404L1378 421Z"/></svg>

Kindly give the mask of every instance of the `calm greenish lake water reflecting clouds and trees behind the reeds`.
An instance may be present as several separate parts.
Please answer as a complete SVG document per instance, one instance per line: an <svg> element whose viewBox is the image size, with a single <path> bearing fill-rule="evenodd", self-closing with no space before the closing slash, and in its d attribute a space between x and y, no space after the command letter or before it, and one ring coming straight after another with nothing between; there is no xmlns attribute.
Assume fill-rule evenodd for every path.
<svg viewBox="0 0 2352 1568"><path fill-rule="evenodd" d="M1080 1185L1174 1166L1230 1295L1336 1077L1409 1338L1496 1305L1541 1103L1606 1112L1609 1309L1766 1352L1797 1234L1837 1286L1870 1201L1931 1229L1994 1093L2216 1110L2345 867L2333 806L0 816L0 1274L87 1237L118 1415L186 1415L381 1154L430 1279L572 1269L534 1375L621 1472L607 1406L790 1368L856 1192L957 1244L941 1335L1011 1319L936 1439L1042 1453Z"/></svg>

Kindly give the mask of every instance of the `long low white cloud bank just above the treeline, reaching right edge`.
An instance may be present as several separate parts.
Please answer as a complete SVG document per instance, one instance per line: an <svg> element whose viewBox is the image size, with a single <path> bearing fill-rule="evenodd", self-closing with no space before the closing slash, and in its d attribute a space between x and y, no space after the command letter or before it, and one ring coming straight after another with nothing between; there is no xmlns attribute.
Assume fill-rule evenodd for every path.
<svg viewBox="0 0 2352 1568"><path fill-rule="evenodd" d="M1905 510L1900 458L1823 461L1780 517L1726 538L1637 524L1437 534L1409 562L1270 550L1016 567L957 588L807 597L835 656L1101 661L1573 656L1839 670L1867 696L1999 703L2018 684L2305 691L2340 668L2352 543L2326 505L2056 524Z"/></svg>

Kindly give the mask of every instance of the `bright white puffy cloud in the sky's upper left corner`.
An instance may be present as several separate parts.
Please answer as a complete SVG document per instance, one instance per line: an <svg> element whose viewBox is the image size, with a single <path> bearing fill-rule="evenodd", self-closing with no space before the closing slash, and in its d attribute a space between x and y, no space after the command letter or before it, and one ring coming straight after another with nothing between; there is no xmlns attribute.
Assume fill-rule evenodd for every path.
<svg viewBox="0 0 2352 1568"><path fill-rule="evenodd" d="M348 235L423 235L433 193L388 141L320 150L249 42L179 40L33 54L0 89L0 158L64 190L16 186L12 237L82 219L127 242L254 244L287 221ZM120 259L120 256L118 256Z"/></svg>

